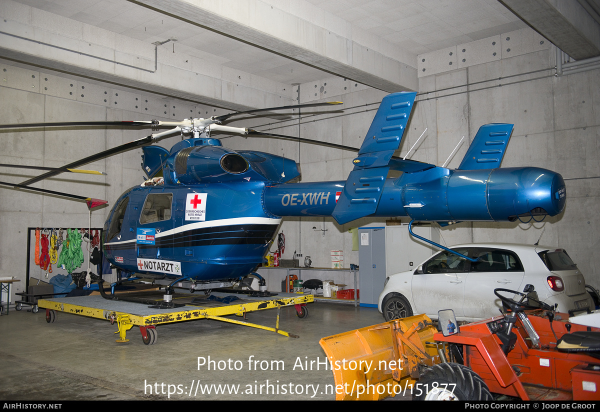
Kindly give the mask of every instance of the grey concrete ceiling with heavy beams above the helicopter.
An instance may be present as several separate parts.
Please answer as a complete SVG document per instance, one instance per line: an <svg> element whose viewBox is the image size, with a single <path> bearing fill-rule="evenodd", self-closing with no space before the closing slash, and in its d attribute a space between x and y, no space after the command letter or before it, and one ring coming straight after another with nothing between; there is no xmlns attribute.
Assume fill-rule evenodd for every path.
<svg viewBox="0 0 600 412"><path fill-rule="evenodd" d="M598 15L594 16L598 2L15 0L16 4L135 39L140 44L170 40L159 46L161 52L185 53L211 65L283 85L316 82L334 75L388 92L417 88L416 61L422 53L527 25L575 59L598 56L600 25L595 20ZM62 28L54 30L69 29L63 23ZM120 52L119 45L115 51ZM52 67L48 62L51 56L36 59L33 53L0 46L2 55L115 82L110 76L101 79L101 70L75 71L75 64L69 68L64 67L65 62ZM133 83L122 82L137 87ZM215 103L210 100L207 103Z"/></svg>

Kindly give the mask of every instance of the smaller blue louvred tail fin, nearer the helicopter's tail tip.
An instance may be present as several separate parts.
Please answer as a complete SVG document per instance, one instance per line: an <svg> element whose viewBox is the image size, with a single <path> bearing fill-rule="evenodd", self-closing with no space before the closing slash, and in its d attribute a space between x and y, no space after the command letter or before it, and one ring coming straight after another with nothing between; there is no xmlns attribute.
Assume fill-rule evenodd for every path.
<svg viewBox="0 0 600 412"><path fill-rule="evenodd" d="M458 170L483 170L500 167L511 139L512 124L493 123L483 125L477 131L467 154Z"/></svg>

